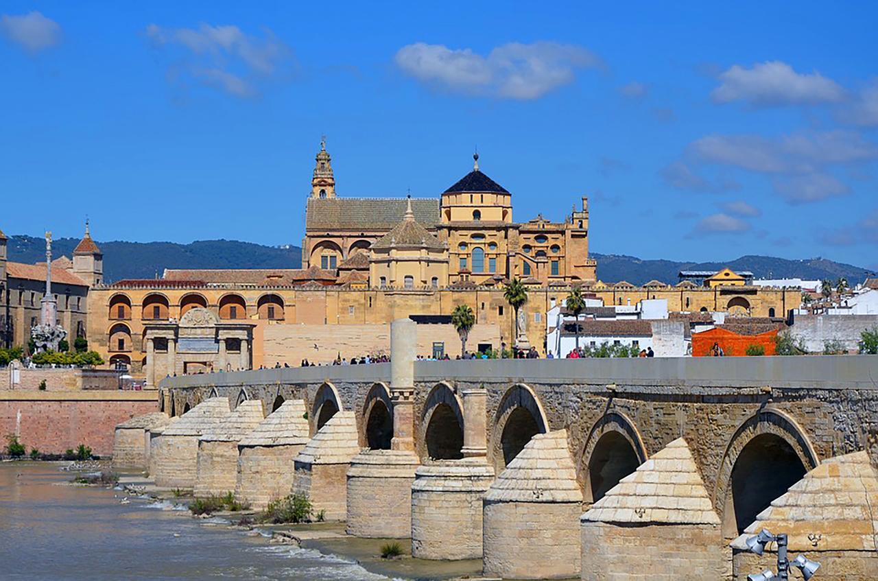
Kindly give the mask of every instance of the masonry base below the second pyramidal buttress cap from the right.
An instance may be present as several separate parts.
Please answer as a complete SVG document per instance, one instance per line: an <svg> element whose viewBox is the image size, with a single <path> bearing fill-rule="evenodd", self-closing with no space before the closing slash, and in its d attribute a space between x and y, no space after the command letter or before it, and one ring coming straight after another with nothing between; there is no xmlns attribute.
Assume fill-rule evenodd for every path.
<svg viewBox="0 0 878 581"><path fill-rule="evenodd" d="M724 579L729 564L719 527L601 522L582 526L583 581L678 581L694 573L698 578Z"/></svg>

